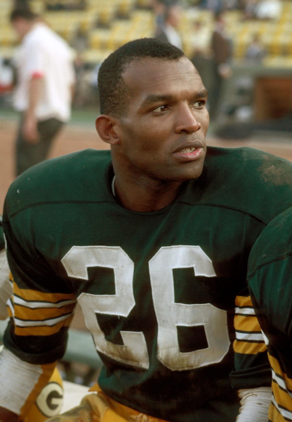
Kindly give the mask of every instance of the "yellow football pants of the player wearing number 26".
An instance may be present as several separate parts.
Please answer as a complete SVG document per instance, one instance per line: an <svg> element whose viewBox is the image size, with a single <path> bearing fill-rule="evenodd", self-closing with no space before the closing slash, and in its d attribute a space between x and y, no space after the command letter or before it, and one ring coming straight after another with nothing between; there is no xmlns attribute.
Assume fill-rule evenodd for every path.
<svg viewBox="0 0 292 422"><path fill-rule="evenodd" d="M100 387L94 390L98 392L84 396L79 406L47 422L167 422L116 402L105 395Z"/></svg>

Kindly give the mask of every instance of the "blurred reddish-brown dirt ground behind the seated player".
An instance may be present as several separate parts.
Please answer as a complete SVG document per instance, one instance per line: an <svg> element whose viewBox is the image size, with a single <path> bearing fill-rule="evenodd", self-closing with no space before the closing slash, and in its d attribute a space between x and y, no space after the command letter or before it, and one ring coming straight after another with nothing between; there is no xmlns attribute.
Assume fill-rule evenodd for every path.
<svg viewBox="0 0 292 422"><path fill-rule="evenodd" d="M16 137L17 122L15 120L0 119L0 212L2 213L6 191L14 179L14 140ZM291 138L291 135L290 135ZM254 137L248 141L224 141L208 137L208 145L223 147L251 146L271 154L278 155L292 161L292 140L280 135L266 135ZM100 140L92 122L89 125L69 124L60 133L54 142L50 157L68 154L85 148L108 149L108 144ZM78 308L74 317L73 326L84 328L83 317Z"/></svg>

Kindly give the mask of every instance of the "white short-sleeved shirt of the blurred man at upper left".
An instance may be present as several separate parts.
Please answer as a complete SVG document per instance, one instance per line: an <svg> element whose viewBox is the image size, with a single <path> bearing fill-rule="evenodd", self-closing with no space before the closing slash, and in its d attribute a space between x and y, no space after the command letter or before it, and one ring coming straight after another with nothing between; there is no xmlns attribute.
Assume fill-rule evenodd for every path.
<svg viewBox="0 0 292 422"><path fill-rule="evenodd" d="M42 77L40 99L36 108L39 121L54 117L66 122L70 118L71 86L75 81L73 54L68 44L43 23L36 23L24 36L15 65L18 84L14 107L28 108L28 87L33 75Z"/></svg>

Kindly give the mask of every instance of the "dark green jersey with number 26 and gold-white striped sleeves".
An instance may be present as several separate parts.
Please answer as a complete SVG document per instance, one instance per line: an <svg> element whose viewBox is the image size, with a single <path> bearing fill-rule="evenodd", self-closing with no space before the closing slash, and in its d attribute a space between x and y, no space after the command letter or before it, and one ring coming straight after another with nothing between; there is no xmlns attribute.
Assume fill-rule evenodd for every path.
<svg viewBox="0 0 292 422"><path fill-rule="evenodd" d="M5 346L31 363L60 359L78 300L108 396L168 421L235 421L235 298L246 295L255 240L292 206L292 165L210 147L202 175L147 213L116 203L113 176L109 151L85 150L11 185L3 224L14 319ZM256 352L236 352L248 368L233 374L235 388L270 384L263 339L254 344Z"/></svg>

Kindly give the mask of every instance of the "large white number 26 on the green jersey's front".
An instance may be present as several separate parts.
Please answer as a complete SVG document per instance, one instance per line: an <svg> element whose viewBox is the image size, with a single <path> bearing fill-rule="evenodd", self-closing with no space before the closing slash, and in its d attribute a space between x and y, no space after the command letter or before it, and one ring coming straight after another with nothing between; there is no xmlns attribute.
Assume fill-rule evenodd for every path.
<svg viewBox="0 0 292 422"><path fill-rule="evenodd" d="M119 246L73 246L62 259L69 277L88 280L87 269L114 270L115 295L81 293L78 302L96 349L119 362L149 368L146 340L142 331L121 331L123 345L105 339L96 313L128 317L135 306L134 262ZM211 303L184 304L174 301L174 268L193 268L195 276L214 277L210 258L200 246L162 247L149 261L149 273L158 323L157 358L172 371L183 371L220 362L227 354L230 339L226 311ZM195 278L194 278L195 282ZM180 352L177 326L203 325L208 347Z"/></svg>

